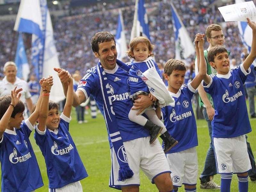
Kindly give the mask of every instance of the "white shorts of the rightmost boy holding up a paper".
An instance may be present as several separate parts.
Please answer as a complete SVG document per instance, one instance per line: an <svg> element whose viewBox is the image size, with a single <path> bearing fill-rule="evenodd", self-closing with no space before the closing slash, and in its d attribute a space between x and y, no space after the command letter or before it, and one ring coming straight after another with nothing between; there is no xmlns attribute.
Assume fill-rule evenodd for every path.
<svg viewBox="0 0 256 192"><path fill-rule="evenodd" d="M252 169L245 135L212 139L217 173L244 173Z"/></svg>

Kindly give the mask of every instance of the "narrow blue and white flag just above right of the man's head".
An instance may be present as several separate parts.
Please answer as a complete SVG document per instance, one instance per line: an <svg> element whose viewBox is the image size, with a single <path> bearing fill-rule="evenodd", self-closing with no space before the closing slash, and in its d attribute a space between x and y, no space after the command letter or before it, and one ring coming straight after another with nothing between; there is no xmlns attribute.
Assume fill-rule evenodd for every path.
<svg viewBox="0 0 256 192"><path fill-rule="evenodd" d="M117 59L122 60L126 56L127 44L125 38L124 30L124 21L121 9L119 9L118 14L118 25L116 30L116 50L117 50Z"/></svg>

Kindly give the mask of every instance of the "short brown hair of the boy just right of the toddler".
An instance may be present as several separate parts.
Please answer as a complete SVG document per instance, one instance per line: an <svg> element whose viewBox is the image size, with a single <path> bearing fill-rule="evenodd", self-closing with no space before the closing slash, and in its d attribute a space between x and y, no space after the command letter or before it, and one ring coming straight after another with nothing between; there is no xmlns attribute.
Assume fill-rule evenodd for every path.
<svg viewBox="0 0 256 192"><path fill-rule="evenodd" d="M174 70L186 71L185 63L182 60L169 59L164 64L164 74L170 76Z"/></svg>

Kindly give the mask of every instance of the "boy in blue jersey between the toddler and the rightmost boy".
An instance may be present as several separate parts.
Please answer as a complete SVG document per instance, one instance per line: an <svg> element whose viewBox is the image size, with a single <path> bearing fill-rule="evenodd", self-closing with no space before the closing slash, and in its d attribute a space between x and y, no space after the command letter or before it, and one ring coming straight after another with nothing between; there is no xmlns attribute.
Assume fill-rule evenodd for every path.
<svg viewBox="0 0 256 192"><path fill-rule="evenodd" d="M168 82L168 91L175 100L175 106L162 108L163 119L168 132L179 140L179 145L166 154L175 192L182 184L185 191L196 191L198 141L191 100L206 74L204 34L196 34L195 46L200 70L188 84L183 85L186 74L186 65L183 61L170 59L164 65L164 78ZM161 116L160 111L157 112L158 116Z"/></svg>

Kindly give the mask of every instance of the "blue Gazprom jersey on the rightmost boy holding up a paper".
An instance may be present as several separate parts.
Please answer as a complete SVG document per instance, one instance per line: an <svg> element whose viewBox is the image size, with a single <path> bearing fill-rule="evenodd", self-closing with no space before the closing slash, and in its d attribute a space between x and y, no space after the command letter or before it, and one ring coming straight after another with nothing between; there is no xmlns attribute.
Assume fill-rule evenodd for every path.
<svg viewBox="0 0 256 192"><path fill-rule="evenodd" d="M250 68L248 71L250 73ZM232 138L252 131L243 86L247 75L241 64L226 75L211 75L210 84L203 84L215 107L212 137Z"/></svg>

